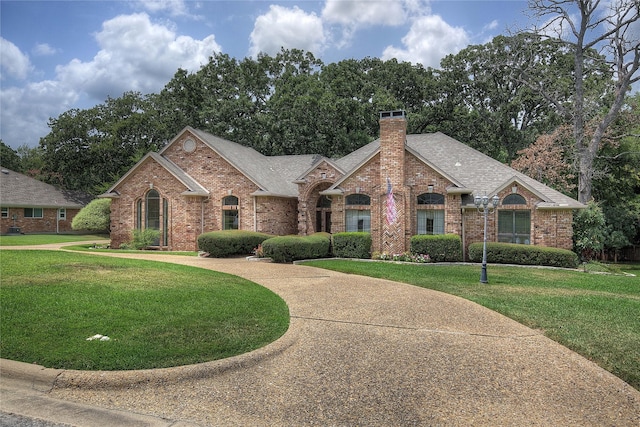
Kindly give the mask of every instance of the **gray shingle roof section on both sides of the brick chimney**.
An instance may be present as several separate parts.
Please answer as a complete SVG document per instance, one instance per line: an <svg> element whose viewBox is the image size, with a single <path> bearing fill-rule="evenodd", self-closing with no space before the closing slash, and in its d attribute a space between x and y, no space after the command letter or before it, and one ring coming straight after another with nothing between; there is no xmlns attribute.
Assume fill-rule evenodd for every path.
<svg viewBox="0 0 640 427"><path fill-rule="evenodd" d="M571 197L534 180L511 167L482 154L441 132L407 135L407 149L432 167L436 172L452 181L461 193L491 196L514 181L520 183L540 197L538 207L583 208L584 205ZM349 155L336 160L348 172L334 186L366 163L380 149L377 139ZM470 200L472 202L472 199Z"/></svg>

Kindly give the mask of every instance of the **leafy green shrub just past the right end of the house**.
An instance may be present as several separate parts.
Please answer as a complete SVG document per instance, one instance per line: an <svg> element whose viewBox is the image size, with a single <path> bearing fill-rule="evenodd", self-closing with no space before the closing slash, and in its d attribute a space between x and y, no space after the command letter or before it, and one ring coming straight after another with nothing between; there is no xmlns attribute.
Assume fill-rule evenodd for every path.
<svg viewBox="0 0 640 427"><path fill-rule="evenodd" d="M573 244L582 259L590 261L604 249L605 233L604 213L596 202L589 202L587 209L573 216Z"/></svg>

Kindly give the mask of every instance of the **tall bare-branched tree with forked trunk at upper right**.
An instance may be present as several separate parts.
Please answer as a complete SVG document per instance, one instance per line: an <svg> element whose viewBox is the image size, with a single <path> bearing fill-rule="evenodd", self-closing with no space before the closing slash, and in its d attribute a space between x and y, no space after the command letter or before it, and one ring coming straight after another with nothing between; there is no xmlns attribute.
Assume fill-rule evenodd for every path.
<svg viewBox="0 0 640 427"><path fill-rule="evenodd" d="M638 0L529 0L534 16L543 20L535 33L565 44L573 54L573 93L570 101L549 90L548 79L522 81L543 94L573 124L578 161L578 200L592 199L594 161L607 128L614 122L631 85L640 80L640 35L635 26L640 21ZM593 55L599 49L602 55ZM586 68L599 64L612 76L606 93L587 84ZM605 76L607 75L605 74ZM551 76L556 79L557 76ZM590 96L593 95L593 96ZM603 105L602 100L611 101ZM587 138L586 124L604 109L593 134Z"/></svg>

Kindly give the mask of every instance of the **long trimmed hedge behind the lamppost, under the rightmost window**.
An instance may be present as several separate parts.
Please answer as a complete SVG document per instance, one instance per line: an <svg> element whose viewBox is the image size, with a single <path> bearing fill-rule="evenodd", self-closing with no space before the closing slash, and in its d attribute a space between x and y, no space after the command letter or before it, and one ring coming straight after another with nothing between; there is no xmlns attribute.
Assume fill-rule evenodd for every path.
<svg viewBox="0 0 640 427"><path fill-rule="evenodd" d="M482 262L482 243L469 245L469 259ZM491 242L487 243L487 262L576 268L579 260L578 255L566 249Z"/></svg>

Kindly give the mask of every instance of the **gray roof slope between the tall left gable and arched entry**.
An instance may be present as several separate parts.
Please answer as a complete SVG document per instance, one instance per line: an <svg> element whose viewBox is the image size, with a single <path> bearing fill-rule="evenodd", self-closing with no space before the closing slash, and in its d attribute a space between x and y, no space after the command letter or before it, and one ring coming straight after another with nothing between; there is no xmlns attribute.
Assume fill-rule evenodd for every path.
<svg viewBox="0 0 640 427"><path fill-rule="evenodd" d="M188 127L226 161L251 179L261 191L255 194L297 197L296 178L314 163L317 155L265 156L256 150L210 133ZM162 153L162 151L160 152Z"/></svg>

